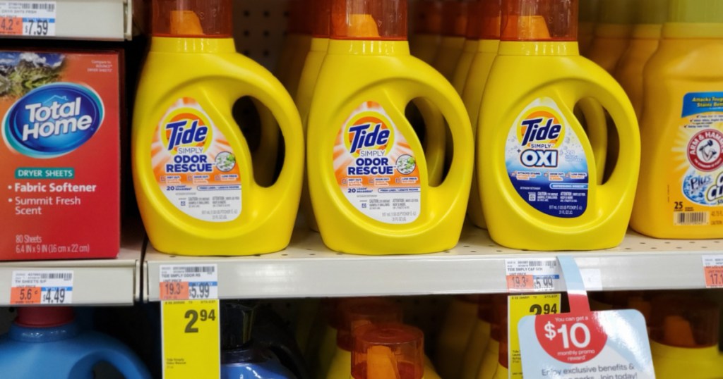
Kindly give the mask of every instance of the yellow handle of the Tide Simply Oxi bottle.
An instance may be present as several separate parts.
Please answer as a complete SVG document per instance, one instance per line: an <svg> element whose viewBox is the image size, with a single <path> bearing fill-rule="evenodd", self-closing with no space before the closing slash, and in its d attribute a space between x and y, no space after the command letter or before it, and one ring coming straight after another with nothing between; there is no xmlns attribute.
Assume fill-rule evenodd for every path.
<svg viewBox="0 0 723 379"><path fill-rule="evenodd" d="M602 108L608 111L615 124L620 150L616 166L609 179L599 187L599 196L603 201L618 199L613 201L618 204L620 194L625 193L628 188L635 188L638 183L641 141L635 110L628 100L628 95L625 95L625 91L617 82L585 81L580 95L581 98L593 97L596 99ZM632 167L632 169L622 170L623 165ZM599 174L604 175L604 172Z"/></svg>

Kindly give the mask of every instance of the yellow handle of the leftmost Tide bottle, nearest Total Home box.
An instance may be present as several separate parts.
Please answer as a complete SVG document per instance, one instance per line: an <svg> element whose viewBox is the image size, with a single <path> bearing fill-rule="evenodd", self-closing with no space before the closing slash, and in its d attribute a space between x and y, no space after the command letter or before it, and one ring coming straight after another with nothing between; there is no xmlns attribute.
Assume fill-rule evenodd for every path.
<svg viewBox="0 0 723 379"><path fill-rule="evenodd" d="M301 190L301 177L304 165L304 134L301 129L301 118L296 110L294 100L288 95L281 82L273 74L251 59L234 55L231 58L233 64L223 72L226 77L235 83L229 83L226 91L228 93L229 106L241 97L250 96L258 101L273 115L281 129L284 139L283 166L278 179L268 187L259 186L259 193L265 199L265 204L280 204L278 199L288 197L288 190L296 187L299 183ZM255 103L254 101L254 103ZM262 110L267 112L267 110ZM274 170L275 167L266 167L267 170ZM298 199L296 199L298 202Z"/></svg>

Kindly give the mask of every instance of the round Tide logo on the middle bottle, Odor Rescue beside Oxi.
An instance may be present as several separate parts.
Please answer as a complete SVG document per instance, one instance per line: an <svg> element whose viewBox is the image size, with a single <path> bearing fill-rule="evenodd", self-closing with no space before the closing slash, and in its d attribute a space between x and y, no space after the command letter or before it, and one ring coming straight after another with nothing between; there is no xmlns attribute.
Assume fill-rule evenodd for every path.
<svg viewBox="0 0 723 379"><path fill-rule="evenodd" d="M394 130L390 126L388 118L380 113L364 112L356 115L345 128L346 151L354 157L388 154L394 146Z"/></svg>

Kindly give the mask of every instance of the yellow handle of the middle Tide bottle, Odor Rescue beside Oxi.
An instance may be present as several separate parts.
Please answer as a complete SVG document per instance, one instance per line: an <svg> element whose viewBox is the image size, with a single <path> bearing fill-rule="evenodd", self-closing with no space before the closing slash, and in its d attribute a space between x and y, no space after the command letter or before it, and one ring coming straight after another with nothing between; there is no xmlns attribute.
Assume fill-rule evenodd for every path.
<svg viewBox="0 0 723 379"><path fill-rule="evenodd" d="M422 97L429 100L442 112L447 121L452 136L453 157L449 172L442 183L437 187L430 188L430 197L433 204L440 204L440 209L449 209L442 206L445 202L466 201L469 199L469 188L472 180L472 165L465 164L474 162L474 141L469 115L462 103L461 98L455 91L452 84L449 84L441 74L435 72L438 78L432 78L428 82L419 82L419 87L412 96ZM468 183L466 191L461 196L459 183ZM451 205L451 204L450 204ZM466 204L465 204L466 208Z"/></svg>

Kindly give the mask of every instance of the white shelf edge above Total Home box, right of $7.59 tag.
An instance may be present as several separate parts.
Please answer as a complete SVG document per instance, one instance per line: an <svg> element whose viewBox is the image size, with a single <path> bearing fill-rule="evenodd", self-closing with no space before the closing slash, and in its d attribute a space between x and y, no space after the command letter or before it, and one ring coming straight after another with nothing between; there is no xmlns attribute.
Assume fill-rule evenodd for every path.
<svg viewBox="0 0 723 379"><path fill-rule="evenodd" d="M14 0L33 3L35 0ZM55 0L56 35L74 40L129 40L132 0ZM29 37L30 38L30 37Z"/></svg>

